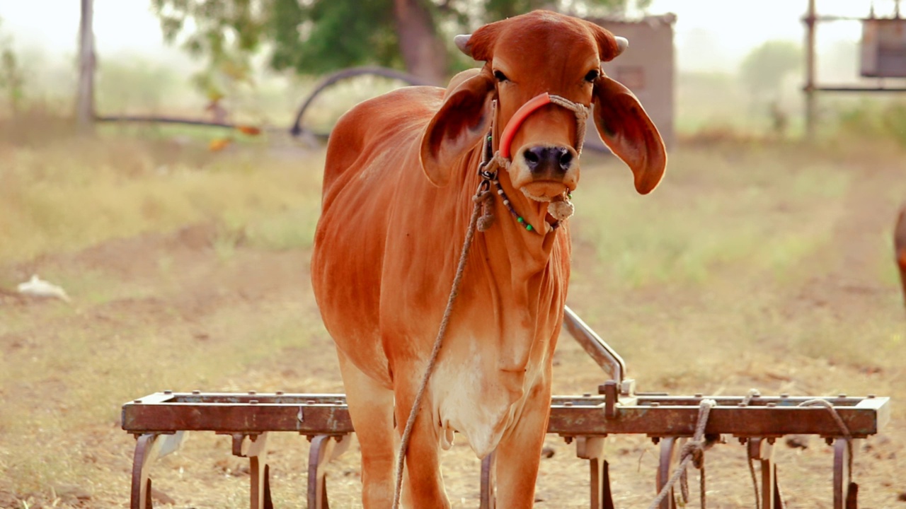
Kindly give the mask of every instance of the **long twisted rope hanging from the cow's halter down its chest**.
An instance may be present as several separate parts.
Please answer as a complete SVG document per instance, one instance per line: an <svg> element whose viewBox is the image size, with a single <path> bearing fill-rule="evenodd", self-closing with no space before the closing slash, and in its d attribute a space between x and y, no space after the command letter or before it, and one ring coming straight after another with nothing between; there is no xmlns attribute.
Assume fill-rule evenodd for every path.
<svg viewBox="0 0 906 509"><path fill-rule="evenodd" d="M459 255L459 265L457 267L456 276L453 278L453 287L450 289L450 294L447 299L447 309L444 310L444 318L440 321L438 337L434 340L434 347L431 350L431 356L428 360L428 367L425 368L425 374L421 378L421 385L419 385L419 391L415 394L415 401L412 403L412 409L409 413L409 420L406 421L406 428L403 430L402 438L400 438L400 456L397 456L396 465L396 486L393 488L393 509L398 509L400 507L400 492L402 491L402 471L406 461L406 450L409 448L409 440L412 433L412 427L415 426L415 419L419 417L421 399L425 395L425 389L428 388L428 381L431 378L431 372L434 371L434 367L437 365L440 346L443 343L444 336L447 335L447 326L449 324L450 314L453 311L453 303L456 302L459 294L459 284L462 283L462 274L466 272L468 251L472 246L472 238L475 235L478 214L482 210L485 201L488 199L488 197L491 196L489 191L482 191L483 187L484 182L482 182L482 185L478 187L476 196L472 198L472 201L475 202L475 207L472 209L472 217L468 222L466 240L462 245L462 252Z"/></svg>

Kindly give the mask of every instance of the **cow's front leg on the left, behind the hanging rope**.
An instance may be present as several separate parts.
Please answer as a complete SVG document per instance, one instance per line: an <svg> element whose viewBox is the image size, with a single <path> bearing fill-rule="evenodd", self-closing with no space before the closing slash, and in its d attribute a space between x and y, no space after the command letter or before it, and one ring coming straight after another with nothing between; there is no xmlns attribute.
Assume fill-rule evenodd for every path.
<svg viewBox="0 0 906 509"><path fill-rule="evenodd" d="M409 370L418 372L420 370ZM396 389L396 420L398 436L402 437L409 421L410 410L418 391L419 380L408 380ZM406 448L406 468L403 479L402 506L407 509L449 507L444 480L440 475L439 427L431 412L431 396L426 392L421 410L412 427L409 446Z"/></svg>

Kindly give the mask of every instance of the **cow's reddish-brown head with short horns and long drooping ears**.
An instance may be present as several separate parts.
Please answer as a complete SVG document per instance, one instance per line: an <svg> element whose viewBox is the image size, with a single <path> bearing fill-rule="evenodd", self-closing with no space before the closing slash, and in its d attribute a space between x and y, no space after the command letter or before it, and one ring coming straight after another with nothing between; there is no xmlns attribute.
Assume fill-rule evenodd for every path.
<svg viewBox="0 0 906 509"><path fill-rule="evenodd" d="M641 194L657 187L667 163L663 141L629 89L601 70L627 41L602 27L547 11L487 24L457 36L460 50L486 62L450 82L440 110L421 139L421 162L434 184L448 183L450 169L473 149L491 124L496 133L526 102L542 93L594 105L594 123L613 153L632 170ZM579 133L572 110L547 104L522 121L512 139L508 173L513 187L547 201L573 190L579 180Z"/></svg>

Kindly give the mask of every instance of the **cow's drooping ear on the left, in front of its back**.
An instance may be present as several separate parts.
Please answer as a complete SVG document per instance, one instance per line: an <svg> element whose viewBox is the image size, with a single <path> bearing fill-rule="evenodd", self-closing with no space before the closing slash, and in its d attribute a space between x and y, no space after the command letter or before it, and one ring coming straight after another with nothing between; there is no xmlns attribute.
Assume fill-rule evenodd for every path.
<svg viewBox="0 0 906 509"><path fill-rule="evenodd" d="M421 168L435 186L449 183L458 158L487 133L494 91L487 68L460 72L450 81L440 110L421 135Z"/></svg>

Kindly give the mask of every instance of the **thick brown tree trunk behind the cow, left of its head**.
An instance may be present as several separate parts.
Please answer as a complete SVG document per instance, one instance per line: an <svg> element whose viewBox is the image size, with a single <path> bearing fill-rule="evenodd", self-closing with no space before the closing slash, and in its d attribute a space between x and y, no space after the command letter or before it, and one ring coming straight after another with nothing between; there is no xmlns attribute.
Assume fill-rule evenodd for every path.
<svg viewBox="0 0 906 509"><path fill-rule="evenodd" d="M424 0L393 0L393 16L406 70L428 82L445 84L447 52Z"/></svg>

